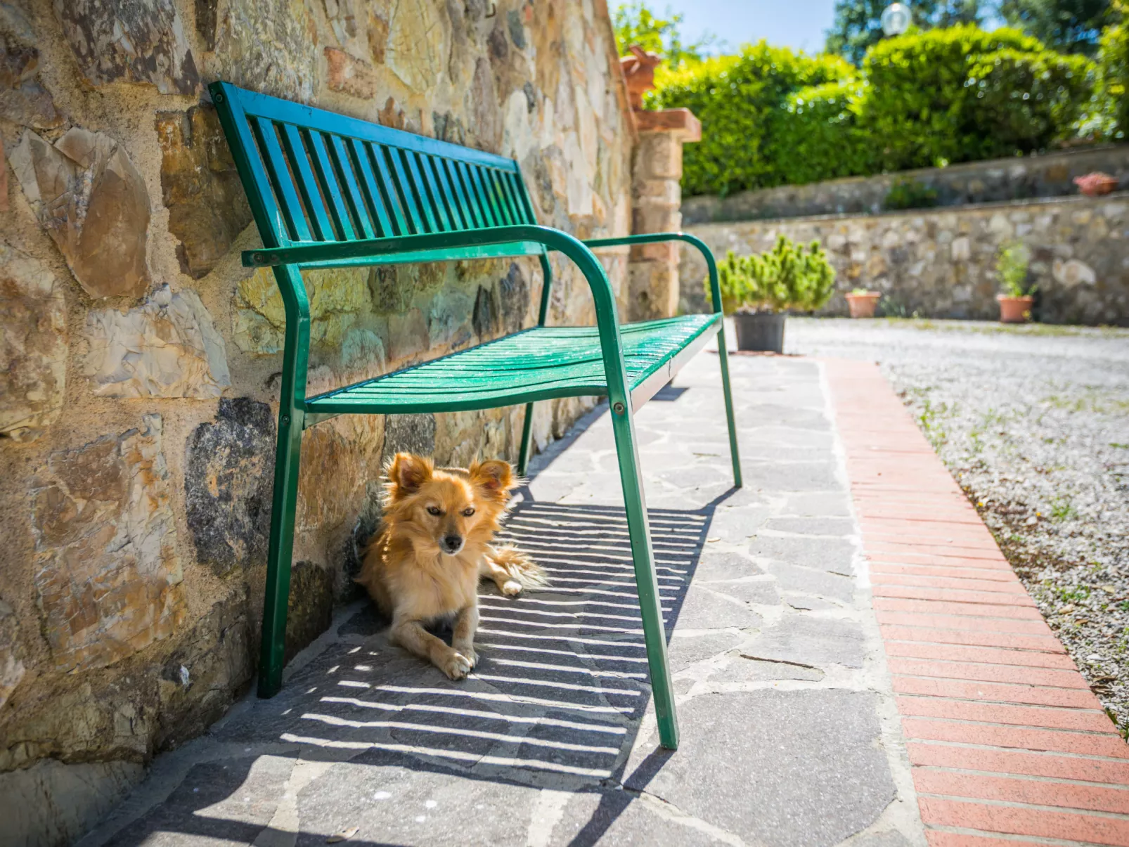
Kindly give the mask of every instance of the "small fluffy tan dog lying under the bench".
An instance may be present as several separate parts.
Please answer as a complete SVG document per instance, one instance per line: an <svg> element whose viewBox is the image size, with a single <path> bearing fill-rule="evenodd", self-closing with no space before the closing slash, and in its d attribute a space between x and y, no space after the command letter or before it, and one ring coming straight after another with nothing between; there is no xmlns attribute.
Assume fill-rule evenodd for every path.
<svg viewBox="0 0 1129 847"><path fill-rule="evenodd" d="M357 582L391 615L393 643L463 679L478 663L479 579L507 596L545 584L527 556L490 543L518 481L508 462L435 468L410 453L397 453L385 474L384 523ZM444 619L453 621L449 647L425 629Z"/></svg>

